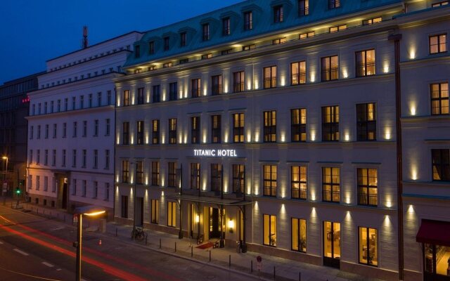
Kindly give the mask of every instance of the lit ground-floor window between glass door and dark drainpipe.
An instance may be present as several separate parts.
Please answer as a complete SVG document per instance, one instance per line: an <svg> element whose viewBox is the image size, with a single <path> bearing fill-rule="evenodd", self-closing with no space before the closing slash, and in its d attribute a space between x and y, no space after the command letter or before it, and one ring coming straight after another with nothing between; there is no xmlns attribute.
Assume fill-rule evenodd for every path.
<svg viewBox="0 0 450 281"><path fill-rule="evenodd" d="M359 228L359 263L378 266L378 241L375 228Z"/></svg>

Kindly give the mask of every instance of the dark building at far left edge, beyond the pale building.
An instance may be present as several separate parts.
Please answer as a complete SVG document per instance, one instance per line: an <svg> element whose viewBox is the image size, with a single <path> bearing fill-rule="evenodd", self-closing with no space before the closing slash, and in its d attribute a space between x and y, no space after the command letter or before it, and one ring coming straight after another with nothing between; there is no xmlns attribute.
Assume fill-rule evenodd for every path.
<svg viewBox="0 0 450 281"><path fill-rule="evenodd" d="M8 185L6 192L8 195L12 194L13 188L25 188L23 186L27 163L27 119L25 118L28 116L30 105L27 93L37 90L39 74L41 73L7 81L0 86L0 170L1 181L3 182L5 178ZM1 192L2 190L0 194Z"/></svg>

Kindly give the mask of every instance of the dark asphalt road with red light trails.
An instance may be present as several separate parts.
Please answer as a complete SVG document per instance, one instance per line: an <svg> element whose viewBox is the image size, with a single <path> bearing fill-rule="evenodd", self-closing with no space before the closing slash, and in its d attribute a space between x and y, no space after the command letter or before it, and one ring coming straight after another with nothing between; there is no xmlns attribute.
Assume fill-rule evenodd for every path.
<svg viewBox="0 0 450 281"><path fill-rule="evenodd" d="M0 280L74 280L75 240L76 230L68 224L1 206ZM86 231L82 259L86 281L249 280L245 275Z"/></svg>

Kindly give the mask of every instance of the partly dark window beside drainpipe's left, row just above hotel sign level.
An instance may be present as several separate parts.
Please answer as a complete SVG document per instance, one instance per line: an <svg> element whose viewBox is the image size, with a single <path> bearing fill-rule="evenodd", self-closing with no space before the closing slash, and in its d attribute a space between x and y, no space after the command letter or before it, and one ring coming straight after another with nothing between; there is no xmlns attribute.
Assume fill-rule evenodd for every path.
<svg viewBox="0 0 450 281"><path fill-rule="evenodd" d="M375 103L356 105L356 138L358 141L377 139L377 119Z"/></svg>

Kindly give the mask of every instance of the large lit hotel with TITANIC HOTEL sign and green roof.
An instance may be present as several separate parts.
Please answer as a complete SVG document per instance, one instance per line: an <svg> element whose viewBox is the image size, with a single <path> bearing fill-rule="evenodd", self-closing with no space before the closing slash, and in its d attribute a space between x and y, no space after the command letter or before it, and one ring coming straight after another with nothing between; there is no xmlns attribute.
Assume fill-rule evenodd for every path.
<svg viewBox="0 0 450 281"><path fill-rule="evenodd" d="M252 0L146 32L114 79L115 221L449 280L418 235L450 223L447 4Z"/></svg>

